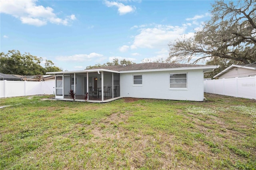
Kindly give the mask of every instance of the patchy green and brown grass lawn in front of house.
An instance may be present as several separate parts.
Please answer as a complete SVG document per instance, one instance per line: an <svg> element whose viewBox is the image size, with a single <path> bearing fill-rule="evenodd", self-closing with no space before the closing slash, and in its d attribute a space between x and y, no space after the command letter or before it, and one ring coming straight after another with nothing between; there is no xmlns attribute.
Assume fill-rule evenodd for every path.
<svg viewBox="0 0 256 170"><path fill-rule="evenodd" d="M0 99L0 168L255 170L256 101L205 97Z"/></svg>

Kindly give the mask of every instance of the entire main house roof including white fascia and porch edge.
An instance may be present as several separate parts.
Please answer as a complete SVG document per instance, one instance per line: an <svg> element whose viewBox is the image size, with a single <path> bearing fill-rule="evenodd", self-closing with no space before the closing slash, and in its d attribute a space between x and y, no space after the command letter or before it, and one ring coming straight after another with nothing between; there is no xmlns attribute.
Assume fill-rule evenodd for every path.
<svg viewBox="0 0 256 170"><path fill-rule="evenodd" d="M111 71L116 73L128 73L128 72L145 72L145 71L167 71L167 70L189 70L189 69L203 69L203 71L209 71L216 69L219 66L216 65L195 65L195 64L176 64L176 63L140 63L130 65L113 65L106 67L97 67L82 71L60 71L49 72L47 74L56 73L82 73L93 71Z"/></svg>

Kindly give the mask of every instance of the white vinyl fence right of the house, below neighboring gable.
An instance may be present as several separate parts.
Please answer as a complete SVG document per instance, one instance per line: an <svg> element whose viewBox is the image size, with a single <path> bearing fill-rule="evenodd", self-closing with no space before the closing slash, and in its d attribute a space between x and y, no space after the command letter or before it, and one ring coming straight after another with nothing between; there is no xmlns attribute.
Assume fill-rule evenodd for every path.
<svg viewBox="0 0 256 170"><path fill-rule="evenodd" d="M205 80L204 92L246 99L256 99L256 76Z"/></svg>

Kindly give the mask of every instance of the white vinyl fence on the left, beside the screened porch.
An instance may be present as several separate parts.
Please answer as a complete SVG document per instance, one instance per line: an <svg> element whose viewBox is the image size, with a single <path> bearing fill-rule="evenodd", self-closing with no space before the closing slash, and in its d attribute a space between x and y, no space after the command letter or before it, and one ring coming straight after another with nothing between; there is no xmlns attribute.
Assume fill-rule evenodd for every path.
<svg viewBox="0 0 256 170"><path fill-rule="evenodd" d="M55 94L55 81L0 81L0 98Z"/></svg>

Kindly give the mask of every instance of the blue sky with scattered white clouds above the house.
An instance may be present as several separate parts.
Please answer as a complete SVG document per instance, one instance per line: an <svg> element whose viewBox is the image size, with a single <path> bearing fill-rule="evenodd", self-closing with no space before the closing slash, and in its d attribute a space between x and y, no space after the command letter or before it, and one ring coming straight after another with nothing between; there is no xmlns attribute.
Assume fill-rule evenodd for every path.
<svg viewBox="0 0 256 170"><path fill-rule="evenodd" d="M169 42L210 19L212 3L1 0L0 51L29 52L68 71L114 58L166 59Z"/></svg>

